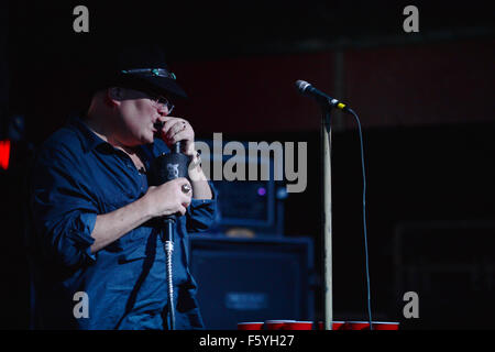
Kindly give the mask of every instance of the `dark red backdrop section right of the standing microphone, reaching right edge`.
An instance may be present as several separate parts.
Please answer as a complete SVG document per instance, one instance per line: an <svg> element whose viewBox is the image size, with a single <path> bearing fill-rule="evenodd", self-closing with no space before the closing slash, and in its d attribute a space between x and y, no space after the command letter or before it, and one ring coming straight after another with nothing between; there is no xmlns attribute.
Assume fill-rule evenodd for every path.
<svg viewBox="0 0 495 352"><path fill-rule="evenodd" d="M345 53L345 98L363 125L418 125L495 118L494 41Z"/></svg>

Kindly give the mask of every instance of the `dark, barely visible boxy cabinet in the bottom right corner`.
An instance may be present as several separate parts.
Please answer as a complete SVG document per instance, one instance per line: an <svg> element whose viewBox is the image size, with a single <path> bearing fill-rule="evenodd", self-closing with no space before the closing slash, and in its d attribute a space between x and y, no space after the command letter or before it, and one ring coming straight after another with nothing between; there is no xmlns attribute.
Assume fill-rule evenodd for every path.
<svg viewBox="0 0 495 352"><path fill-rule="evenodd" d="M415 292L404 329L494 329L495 222L405 223L395 235L395 294Z"/></svg>

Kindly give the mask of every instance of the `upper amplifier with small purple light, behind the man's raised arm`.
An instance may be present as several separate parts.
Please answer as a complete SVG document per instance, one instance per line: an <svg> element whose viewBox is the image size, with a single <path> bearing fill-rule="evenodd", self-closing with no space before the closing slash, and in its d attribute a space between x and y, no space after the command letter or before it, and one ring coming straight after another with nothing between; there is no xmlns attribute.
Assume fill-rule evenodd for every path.
<svg viewBox="0 0 495 352"><path fill-rule="evenodd" d="M229 143L235 143L244 153L223 154ZM249 142L202 140L195 145L201 151L202 169L219 198L211 231L224 233L241 228L256 235L282 235L288 194L280 179L282 166L273 153L250 147Z"/></svg>

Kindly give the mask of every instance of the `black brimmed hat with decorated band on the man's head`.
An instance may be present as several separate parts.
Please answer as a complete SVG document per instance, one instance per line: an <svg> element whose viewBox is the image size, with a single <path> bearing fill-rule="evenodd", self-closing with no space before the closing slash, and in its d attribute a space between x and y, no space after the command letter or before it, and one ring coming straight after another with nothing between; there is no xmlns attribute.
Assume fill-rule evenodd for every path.
<svg viewBox="0 0 495 352"><path fill-rule="evenodd" d="M98 65L98 88L124 86L154 94L187 98L177 77L165 63L165 53L157 45L127 45L103 54Z"/></svg>

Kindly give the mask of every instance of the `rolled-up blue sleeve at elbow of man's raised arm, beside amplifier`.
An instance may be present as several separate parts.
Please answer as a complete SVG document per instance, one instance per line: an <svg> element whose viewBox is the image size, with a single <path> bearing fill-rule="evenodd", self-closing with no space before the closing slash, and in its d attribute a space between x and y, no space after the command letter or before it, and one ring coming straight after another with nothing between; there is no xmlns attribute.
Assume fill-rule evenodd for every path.
<svg viewBox="0 0 495 352"><path fill-rule="evenodd" d="M211 188L211 199L191 199L188 212L186 213L187 232L202 232L208 230L216 220L217 213L217 190L211 182L208 182Z"/></svg>

